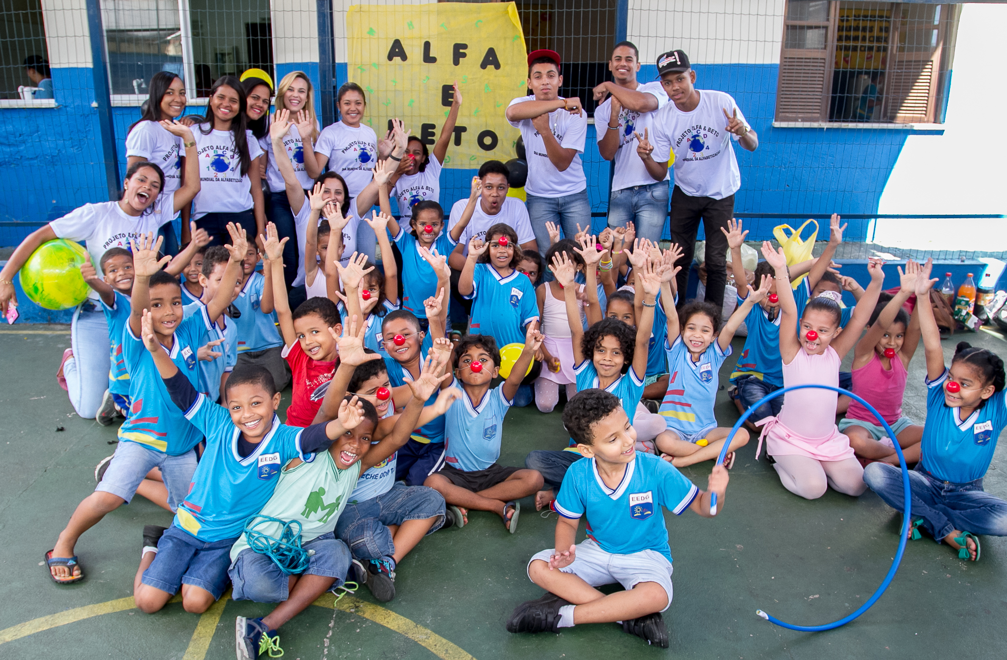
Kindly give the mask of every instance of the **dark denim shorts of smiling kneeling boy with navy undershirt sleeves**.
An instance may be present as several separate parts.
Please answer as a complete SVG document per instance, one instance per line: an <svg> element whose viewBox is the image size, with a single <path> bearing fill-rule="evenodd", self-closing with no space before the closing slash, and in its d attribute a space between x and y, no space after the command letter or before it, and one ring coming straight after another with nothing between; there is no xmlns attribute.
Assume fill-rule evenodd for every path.
<svg viewBox="0 0 1007 660"><path fill-rule="evenodd" d="M207 543L172 524L157 542L157 556L140 582L168 594L175 594L182 585L192 585L220 599L228 589L231 546L237 540Z"/></svg>

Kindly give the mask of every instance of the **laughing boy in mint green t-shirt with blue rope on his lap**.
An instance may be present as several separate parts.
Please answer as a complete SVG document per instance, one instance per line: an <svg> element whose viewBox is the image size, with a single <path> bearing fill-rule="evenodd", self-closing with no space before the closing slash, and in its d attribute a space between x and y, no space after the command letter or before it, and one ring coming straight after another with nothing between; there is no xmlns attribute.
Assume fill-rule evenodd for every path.
<svg viewBox="0 0 1007 660"><path fill-rule="evenodd" d="M349 325L349 332L339 339L342 357L339 370L342 372L352 372L353 365L368 360L380 361L377 354L364 352L361 334L366 332L366 326L362 324L362 332L357 333L354 322ZM438 359L441 358L434 355L429 361ZM440 387L441 378L434 375L436 372L435 368L429 368L421 378L409 383L413 397L394 431L374 444L373 440L379 438L378 414L374 405L357 396L346 395L344 387L332 382L326 401L338 407L336 419L346 432L313 461L294 458L284 466L272 498L257 516L248 520L245 532L231 548L232 598L280 603L266 617L238 617L235 640L239 658L254 659L266 651L270 657L282 655L276 629L325 592L355 590L352 580L366 576L359 564L351 566L349 548L335 537L333 530L361 472L387 460L409 439L420 412L425 409L426 399ZM359 414L355 412L356 408ZM362 418L355 426L347 421L347 417L353 415ZM280 537L285 525L290 525L294 533L300 532L301 547L310 554L300 557L299 565L287 564L281 568L276 558L262 550L263 541L272 542ZM259 534L267 534L270 538ZM351 576L350 582L345 582L347 574Z"/></svg>

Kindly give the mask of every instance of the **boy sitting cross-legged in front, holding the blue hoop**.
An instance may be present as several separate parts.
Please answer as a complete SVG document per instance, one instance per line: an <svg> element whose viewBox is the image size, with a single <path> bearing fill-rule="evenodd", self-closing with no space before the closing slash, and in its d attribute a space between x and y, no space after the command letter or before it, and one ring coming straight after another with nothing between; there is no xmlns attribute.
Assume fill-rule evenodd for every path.
<svg viewBox="0 0 1007 660"><path fill-rule="evenodd" d="M672 555L661 506L710 515L710 494L724 504L727 470L716 466L708 492L667 461L634 451L636 432L619 403L603 389L585 389L563 410L563 425L584 459L567 470L553 504L559 514L556 548L532 557L528 575L547 594L511 615L512 633L559 632L574 624L622 622L622 630L668 648L661 613L672 603ZM574 544L580 518L588 538ZM596 587L619 583L608 596Z"/></svg>

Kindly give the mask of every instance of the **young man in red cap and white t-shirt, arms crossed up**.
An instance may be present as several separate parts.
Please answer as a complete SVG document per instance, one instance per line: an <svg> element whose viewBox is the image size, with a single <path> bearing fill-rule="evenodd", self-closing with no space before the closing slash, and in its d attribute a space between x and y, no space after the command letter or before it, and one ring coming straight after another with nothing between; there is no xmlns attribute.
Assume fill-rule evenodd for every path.
<svg viewBox="0 0 1007 660"><path fill-rule="evenodd" d="M555 50L533 50L528 55L528 87L534 93L519 97L507 109L511 126L521 129L528 154L528 214L539 252L549 249L546 222L563 227L572 238L577 222L590 222L587 179L581 166L587 137L587 116L580 99L558 96L563 85L560 55Z"/></svg>

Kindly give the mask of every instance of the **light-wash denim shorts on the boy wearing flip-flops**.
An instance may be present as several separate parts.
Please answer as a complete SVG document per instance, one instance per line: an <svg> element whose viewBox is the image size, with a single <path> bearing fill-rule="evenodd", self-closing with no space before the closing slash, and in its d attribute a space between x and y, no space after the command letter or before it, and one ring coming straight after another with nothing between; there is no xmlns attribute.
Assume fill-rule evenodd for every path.
<svg viewBox="0 0 1007 660"><path fill-rule="evenodd" d="M112 493L129 503L147 473L152 468L160 468L164 486L168 489L168 506L174 511L188 494L195 465L194 450L181 456L168 456L140 443L119 441L115 456L95 490Z"/></svg>

